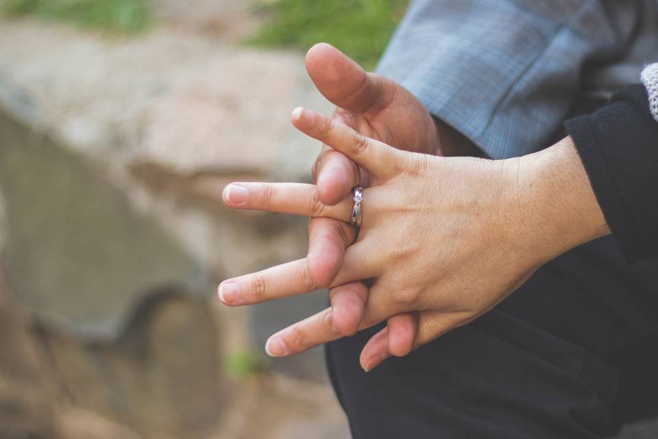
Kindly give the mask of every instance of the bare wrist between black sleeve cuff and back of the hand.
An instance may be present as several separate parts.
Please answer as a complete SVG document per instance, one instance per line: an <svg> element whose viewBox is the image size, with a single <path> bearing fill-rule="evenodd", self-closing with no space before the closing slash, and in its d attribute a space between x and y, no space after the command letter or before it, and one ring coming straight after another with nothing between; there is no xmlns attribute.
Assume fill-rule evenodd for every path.
<svg viewBox="0 0 658 439"><path fill-rule="evenodd" d="M544 261L610 233L570 137L517 160L525 226Z"/></svg>

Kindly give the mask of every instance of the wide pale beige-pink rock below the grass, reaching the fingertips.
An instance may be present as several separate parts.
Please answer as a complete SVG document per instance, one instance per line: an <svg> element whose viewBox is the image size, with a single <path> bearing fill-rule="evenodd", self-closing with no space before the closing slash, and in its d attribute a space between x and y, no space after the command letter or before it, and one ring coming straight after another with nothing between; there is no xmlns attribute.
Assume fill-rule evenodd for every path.
<svg viewBox="0 0 658 439"><path fill-rule="evenodd" d="M330 110L300 54L236 48L175 26L112 40L3 21L0 78L0 105L64 145L187 176L308 178L317 143L302 141L289 115L302 104Z"/></svg>

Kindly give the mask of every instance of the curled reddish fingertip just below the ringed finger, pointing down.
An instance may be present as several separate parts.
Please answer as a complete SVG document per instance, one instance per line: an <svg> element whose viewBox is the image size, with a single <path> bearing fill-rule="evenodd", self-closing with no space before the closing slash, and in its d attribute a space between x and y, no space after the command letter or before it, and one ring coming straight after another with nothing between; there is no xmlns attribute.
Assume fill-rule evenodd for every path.
<svg viewBox="0 0 658 439"><path fill-rule="evenodd" d="M345 248L356 230L345 222L315 217L308 221L308 274L317 285L329 285L343 266Z"/></svg>

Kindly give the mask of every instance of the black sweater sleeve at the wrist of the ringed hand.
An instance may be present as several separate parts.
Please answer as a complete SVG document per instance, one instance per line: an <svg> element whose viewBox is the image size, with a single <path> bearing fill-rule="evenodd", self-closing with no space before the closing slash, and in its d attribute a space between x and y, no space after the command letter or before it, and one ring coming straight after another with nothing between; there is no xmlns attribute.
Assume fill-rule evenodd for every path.
<svg viewBox="0 0 658 439"><path fill-rule="evenodd" d="M565 123L626 261L658 257L658 122L643 86Z"/></svg>

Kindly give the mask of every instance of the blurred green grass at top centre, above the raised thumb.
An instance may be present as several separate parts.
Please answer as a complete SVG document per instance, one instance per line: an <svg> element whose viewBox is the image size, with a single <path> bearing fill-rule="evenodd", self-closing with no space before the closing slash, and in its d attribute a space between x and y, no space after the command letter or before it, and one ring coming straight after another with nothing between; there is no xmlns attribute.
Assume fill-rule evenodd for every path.
<svg viewBox="0 0 658 439"><path fill-rule="evenodd" d="M269 20L249 43L306 50L324 41L372 69L402 19L407 3L408 0L257 0L256 11Z"/></svg>

